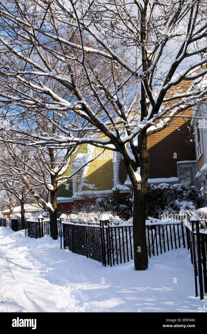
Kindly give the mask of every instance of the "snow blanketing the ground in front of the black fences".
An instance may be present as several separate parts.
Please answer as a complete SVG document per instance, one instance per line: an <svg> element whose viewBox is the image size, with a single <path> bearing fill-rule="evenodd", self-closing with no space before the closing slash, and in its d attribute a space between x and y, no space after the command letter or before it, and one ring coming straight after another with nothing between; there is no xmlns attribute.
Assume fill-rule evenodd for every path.
<svg viewBox="0 0 207 334"><path fill-rule="evenodd" d="M0 227L0 311L198 312L187 249L174 249L136 272L133 261L111 267L60 249L48 235L25 238ZM177 279L177 283L173 283Z"/></svg>

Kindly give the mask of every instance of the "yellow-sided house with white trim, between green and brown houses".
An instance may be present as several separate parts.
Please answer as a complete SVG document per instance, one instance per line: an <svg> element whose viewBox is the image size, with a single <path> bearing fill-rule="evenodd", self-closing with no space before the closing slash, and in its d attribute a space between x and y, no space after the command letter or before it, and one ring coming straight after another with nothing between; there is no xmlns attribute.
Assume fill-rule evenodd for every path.
<svg viewBox="0 0 207 334"><path fill-rule="evenodd" d="M123 193L131 192L124 186L124 182L122 186L117 184L116 180L114 182L117 168L116 154L110 150L105 150L102 154L101 152L102 148L90 144L80 145L65 174L71 175L80 166L84 164L86 166L72 180L59 184L57 193L59 211L64 209L70 211L74 203L81 203L84 198L91 199L93 203L98 197L107 197L117 186ZM89 161L91 162L88 163ZM125 180L126 175L123 181Z"/></svg>

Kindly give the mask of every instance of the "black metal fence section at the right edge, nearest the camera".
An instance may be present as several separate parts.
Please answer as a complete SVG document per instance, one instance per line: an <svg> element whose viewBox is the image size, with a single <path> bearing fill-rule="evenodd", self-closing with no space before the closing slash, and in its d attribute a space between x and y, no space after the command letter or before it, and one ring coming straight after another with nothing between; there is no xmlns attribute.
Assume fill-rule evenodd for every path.
<svg viewBox="0 0 207 334"><path fill-rule="evenodd" d="M195 294L197 297L199 284L202 300L204 293L207 293L207 230L202 222L191 221L191 224L186 224L186 234L187 247L194 267Z"/></svg>

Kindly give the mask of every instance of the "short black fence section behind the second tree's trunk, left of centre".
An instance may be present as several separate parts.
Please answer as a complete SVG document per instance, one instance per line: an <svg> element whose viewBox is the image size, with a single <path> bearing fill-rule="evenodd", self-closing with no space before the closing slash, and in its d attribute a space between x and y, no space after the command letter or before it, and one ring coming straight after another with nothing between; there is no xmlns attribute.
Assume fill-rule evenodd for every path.
<svg viewBox="0 0 207 334"><path fill-rule="evenodd" d="M57 219L58 235L60 236L60 219ZM50 235L50 219L27 219L25 218L25 236L30 238L42 238L45 234Z"/></svg>

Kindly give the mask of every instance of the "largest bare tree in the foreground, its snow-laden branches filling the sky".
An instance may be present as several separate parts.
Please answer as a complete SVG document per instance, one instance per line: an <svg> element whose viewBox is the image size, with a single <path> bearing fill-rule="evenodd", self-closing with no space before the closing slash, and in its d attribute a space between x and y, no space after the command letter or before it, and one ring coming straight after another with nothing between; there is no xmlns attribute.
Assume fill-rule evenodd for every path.
<svg viewBox="0 0 207 334"><path fill-rule="evenodd" d="M206 10L204 0L0 5L2 117L18 134L8 141L55 149L90 143L122 154L134 189L135 270L148 267L147 139L206 99ZM24 113L50 119L59 135L40 127L27 140L14 126Z"/></svg>

